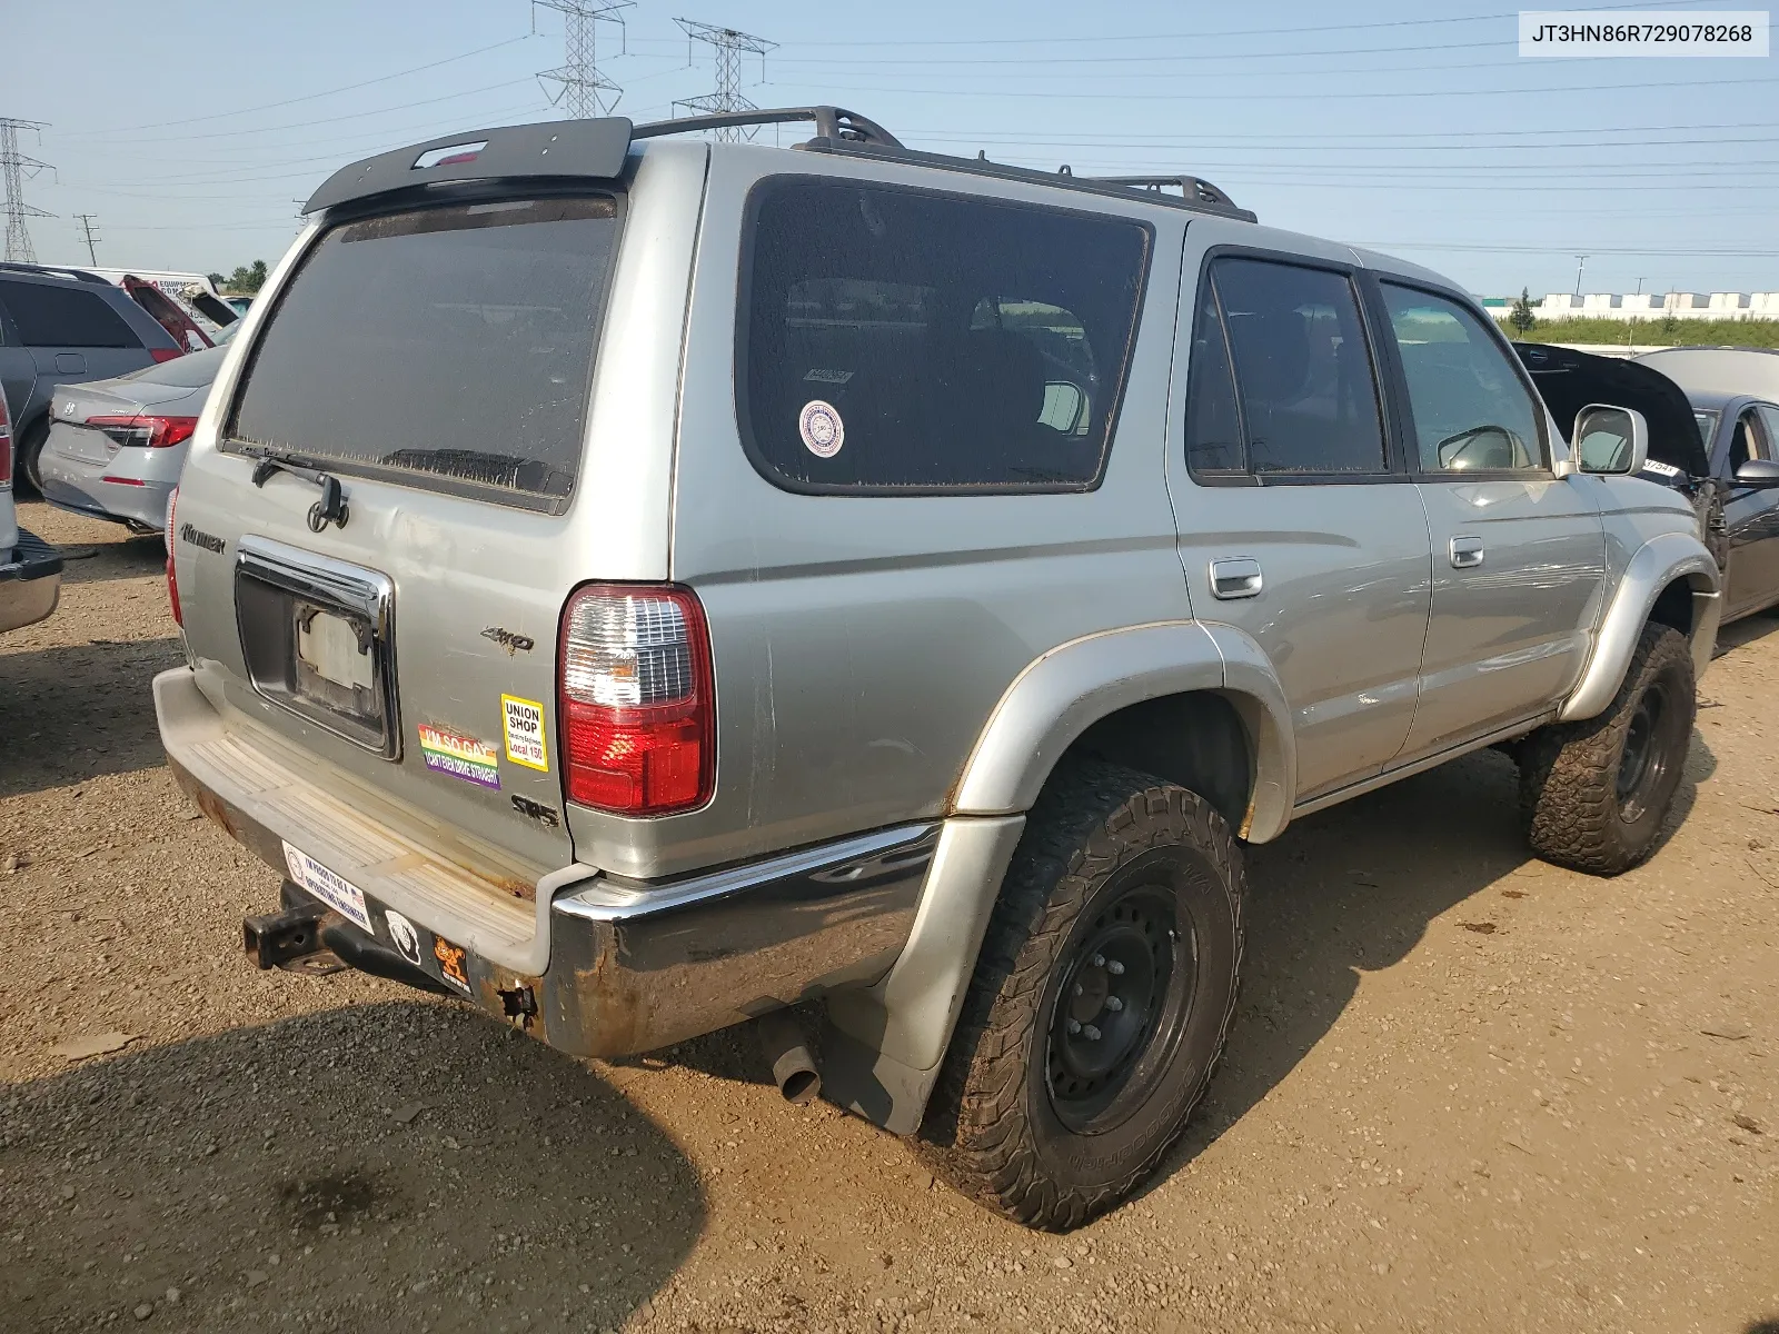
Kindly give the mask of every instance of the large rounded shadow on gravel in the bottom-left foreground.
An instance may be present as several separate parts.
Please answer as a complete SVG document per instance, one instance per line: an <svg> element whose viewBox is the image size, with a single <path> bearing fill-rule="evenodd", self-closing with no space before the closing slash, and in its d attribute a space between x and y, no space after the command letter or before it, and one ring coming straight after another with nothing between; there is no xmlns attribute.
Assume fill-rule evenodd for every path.
<svg viewBox="0 0 1779 1334"><path fill-rule="evenodd" d="M706 1217L692 1165L605 1080L425 1001L12 1085L0 1165L20 1332L617 1327Z"/></svg>

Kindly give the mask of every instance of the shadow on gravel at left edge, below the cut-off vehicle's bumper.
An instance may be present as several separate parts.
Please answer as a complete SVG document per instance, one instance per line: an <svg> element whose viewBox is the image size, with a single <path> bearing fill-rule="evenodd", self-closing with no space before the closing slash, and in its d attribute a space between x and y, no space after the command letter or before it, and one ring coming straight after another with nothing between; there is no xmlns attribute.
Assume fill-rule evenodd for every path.
<svg viewBox="0 0 1779 1334"><path fill-rule="evenodd" d="M0 797L158 767L148 683L180 662L171 635L0 653Z"/></svg>

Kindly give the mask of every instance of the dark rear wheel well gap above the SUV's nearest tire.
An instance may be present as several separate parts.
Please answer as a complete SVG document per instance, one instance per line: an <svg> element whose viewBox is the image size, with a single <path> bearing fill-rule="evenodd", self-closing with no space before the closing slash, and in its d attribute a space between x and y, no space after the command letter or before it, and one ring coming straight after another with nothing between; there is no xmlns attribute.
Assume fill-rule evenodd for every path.
<svg viewBox="0 0 1779 1334"><path fill-rule="evenodd" d="M1199 793L1240 829L1254 786L1242 719L1224 695L1194 690L1108 713L1066 752L1126 765Z"/></svg>

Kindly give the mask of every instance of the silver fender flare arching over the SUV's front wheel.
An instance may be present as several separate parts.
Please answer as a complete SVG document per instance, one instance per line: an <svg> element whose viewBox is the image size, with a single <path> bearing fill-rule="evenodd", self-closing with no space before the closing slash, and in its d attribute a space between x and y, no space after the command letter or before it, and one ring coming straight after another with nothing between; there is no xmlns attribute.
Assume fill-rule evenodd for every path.
<svg viewBox="0 0 1779 1334"><path fill-rule="evenodd" d="M1589 658L1582 681L1564 703L1558 719L1564 722L1592 719L1612 703L1656 598L1676 578L1685 578L1692 587L1692 667L1695 674L1704 676L1717 647L1717 623L1724 615L1717 562L1711 560L1704 542L1690 534L1656 534L1637 548L1626 566L1619 591L1612 596L1612 605L1594 637L1594 656Z"/></svg>

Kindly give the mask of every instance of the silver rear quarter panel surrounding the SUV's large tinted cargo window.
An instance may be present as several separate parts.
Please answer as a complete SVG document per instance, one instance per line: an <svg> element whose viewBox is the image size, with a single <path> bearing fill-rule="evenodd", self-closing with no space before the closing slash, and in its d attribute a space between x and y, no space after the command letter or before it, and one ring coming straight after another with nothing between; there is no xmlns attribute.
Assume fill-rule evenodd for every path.
<svg viewBox="0 0 1779 1334"><path fill-rule="evenodd" d="M1069 196L890 164L802 171L980 192ZM801 165L801 164L799 164ZM717 790L653 822L571 811L576 850L658 875L948 809L996 701L1039 655L1101 630L1190 615L1162 480L1183 213L1085 206L1155 226L1110 464L1082 494L793 494L754 471L733 391L749 187L785 157L712 157L687 327L672 578L710 617Z"/></svg>

